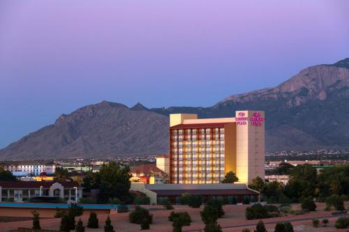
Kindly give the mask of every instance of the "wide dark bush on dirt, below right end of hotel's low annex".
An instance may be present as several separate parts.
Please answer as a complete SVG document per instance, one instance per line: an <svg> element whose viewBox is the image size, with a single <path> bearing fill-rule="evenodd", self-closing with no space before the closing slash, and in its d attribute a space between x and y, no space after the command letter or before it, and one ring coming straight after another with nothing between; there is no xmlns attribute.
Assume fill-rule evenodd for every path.
<svg viewBox="0 0 349 232"><path fill-rule="evenodd" d="M247 207L245 216L246 219L262 219L268 217L279 217L280 212L279 208L272 205L262 206L260 203L257 203L253 206Z"/></svg>

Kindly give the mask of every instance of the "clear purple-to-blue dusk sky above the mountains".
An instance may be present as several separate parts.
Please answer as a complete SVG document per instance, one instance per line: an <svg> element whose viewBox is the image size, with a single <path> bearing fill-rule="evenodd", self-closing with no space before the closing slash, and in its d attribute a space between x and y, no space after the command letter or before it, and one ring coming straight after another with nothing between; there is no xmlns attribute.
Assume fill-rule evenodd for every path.
<svg viewBox="0 0 349 232"><path fill-rule="evenodd" d="M0 1L0 148L109 100L208 107L349 57L349 1Z"/></svg>

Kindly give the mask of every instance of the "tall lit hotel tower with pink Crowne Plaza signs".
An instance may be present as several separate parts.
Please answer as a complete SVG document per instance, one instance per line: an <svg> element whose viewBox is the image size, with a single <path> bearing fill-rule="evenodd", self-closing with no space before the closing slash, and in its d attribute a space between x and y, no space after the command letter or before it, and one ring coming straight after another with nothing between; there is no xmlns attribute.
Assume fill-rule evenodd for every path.
<svg viewBox="0 0 349 232"><path fill-rule="evenodd" d="M220 183L233 171L239 183L265 177L265 112L198 119L170 114L170 183Z"/></svg>

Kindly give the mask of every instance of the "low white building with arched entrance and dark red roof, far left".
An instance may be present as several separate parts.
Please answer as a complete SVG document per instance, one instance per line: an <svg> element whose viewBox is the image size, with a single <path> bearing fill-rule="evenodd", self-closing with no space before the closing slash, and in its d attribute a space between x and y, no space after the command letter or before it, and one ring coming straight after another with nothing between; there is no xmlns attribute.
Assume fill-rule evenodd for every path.
<svg viewBox="0 0 349 232"><path fill-rule="evenodd" d="M0 181L0 201L24 202L36 196L76 201L82 197L82 187L75 181Z"/></svg>

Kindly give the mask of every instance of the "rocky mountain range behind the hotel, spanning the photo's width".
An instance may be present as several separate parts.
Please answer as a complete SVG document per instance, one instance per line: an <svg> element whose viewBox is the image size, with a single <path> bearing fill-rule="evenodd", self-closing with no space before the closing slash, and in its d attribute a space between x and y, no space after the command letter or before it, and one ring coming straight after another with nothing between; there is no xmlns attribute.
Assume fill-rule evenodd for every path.
<svg viewBox="0 0 349 232"><path fill-rule="evenodd" d="M230 95L212 107L87 105L3 148L0 159L166 153L169 114L229 117L243 109L265 111L267 150L349 148L349 58L305 68L279 86Z"/></svg>

